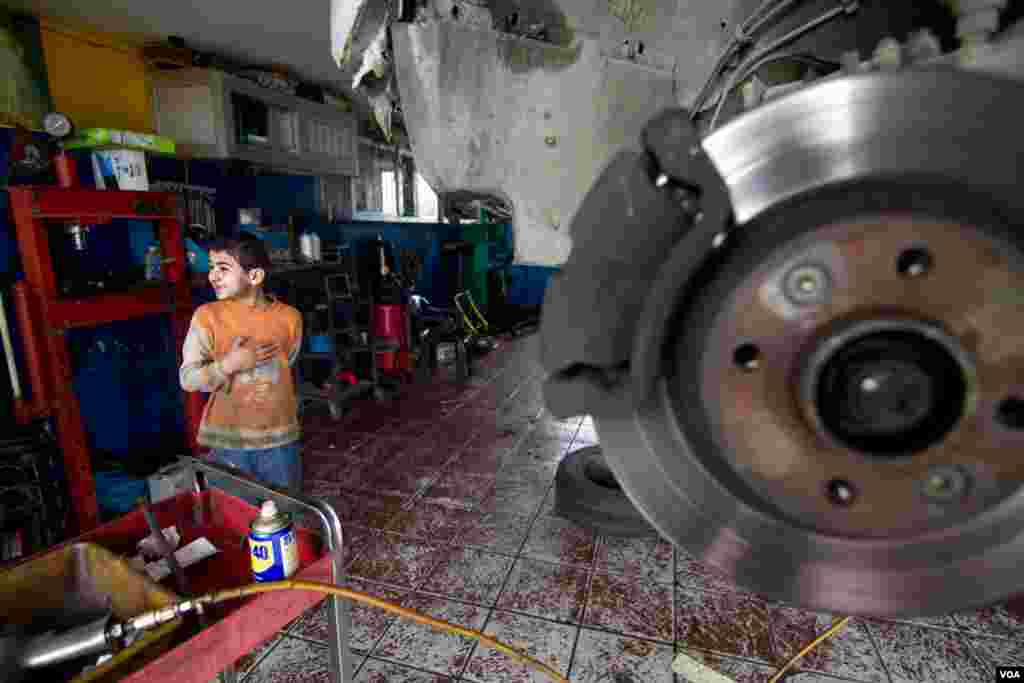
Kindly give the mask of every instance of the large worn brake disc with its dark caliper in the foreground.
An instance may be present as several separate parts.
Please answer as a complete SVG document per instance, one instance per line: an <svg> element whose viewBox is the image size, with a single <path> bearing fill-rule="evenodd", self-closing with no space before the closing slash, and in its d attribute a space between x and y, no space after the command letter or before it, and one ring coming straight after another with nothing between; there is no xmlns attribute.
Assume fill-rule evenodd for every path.
<svg viewBox="0 0 1024 683"><path fill-rule="evenodd" d="M929 615L1024 577L1024 89L845 78L649 124L549 286L549 410L667 539L805 607Z"/></svg>

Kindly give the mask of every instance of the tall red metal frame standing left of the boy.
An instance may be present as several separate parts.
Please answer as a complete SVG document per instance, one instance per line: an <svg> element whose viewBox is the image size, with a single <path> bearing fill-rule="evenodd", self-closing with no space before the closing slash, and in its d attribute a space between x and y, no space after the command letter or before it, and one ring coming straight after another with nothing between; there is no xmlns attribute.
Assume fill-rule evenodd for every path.
<svg viewBox="0 0 1024 683"><path fill-rule="evenodd" d="M43 381L48 382L48 413L56 422L57 439L63 457L71 495L74 524L78 532L96 526L98 506L95 480L89 459L85 426L78 396L72 385L71 350L66 332L126 321L143 315L170 315L176 347L180 356L188 332L193 304L186 278L185 253L181 225L177 218L177 200L170 193L104 191L94 189L57 189L53 187L11 187L11 213L18 249L25 268L26 288L31 314L44 332ZM95 228L114 229L115 218L156 222L156 232L164 255L163 280L141 285L136 290L95 296L60 296L49 226L53 223L80 221ZM178 358L180 362L180 357ZM195 438L201 418L198 394L185 395L185 419L189 439ZM195 442L190 440L195 447Z"/></svg>

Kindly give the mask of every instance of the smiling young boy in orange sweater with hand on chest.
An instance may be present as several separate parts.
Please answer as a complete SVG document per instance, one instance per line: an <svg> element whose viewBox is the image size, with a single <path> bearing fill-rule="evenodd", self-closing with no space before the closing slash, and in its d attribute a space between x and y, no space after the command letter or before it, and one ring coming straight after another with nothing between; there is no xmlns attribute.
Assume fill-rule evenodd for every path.
<svg viewBox="0 0 1024 683"><path fill-rule="evenodd" d="M198 441L215 459L298 490L298 402L291 367L302 314L263 291L270 259L256 238L210 247L217 301L200 306L185 338L181 388L210 394Z"/></svg>

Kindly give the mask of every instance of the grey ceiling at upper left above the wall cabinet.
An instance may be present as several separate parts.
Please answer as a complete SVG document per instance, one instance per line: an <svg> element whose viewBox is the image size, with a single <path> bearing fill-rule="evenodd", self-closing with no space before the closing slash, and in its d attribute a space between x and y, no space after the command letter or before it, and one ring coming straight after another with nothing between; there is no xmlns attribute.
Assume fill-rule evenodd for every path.
<svg viewBox="0 0 1024 683"><path fill-rule="evenodd" d="M331 0L0 0L40 16L147 40L180 36L201 50L253 66L286 65L302 79L350 94L331 56Z"/></svg>

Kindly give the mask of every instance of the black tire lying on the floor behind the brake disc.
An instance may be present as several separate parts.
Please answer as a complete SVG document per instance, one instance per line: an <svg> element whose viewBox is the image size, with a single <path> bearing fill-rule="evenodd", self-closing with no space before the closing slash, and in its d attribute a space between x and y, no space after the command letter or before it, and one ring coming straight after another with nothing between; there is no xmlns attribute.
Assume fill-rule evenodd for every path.
<svg viewBox="0 0 1024 683"><path fill-rule="evenodd" d="M597 445L574 451L558 464L555 514L603 536L657 536L618 487Z"/></svg>

